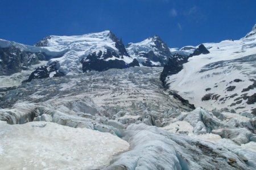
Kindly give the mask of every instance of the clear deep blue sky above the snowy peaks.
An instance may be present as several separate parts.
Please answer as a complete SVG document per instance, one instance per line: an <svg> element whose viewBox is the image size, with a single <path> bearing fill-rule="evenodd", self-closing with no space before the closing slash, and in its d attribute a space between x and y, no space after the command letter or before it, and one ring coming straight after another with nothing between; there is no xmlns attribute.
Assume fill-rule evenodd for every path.
<svg viewBox="0 0 256 170"><path fill-rule="evenodd" d="M159 35L170 47L240 39L256 24L255 0L1 0L0 39L110 30L123 42Z"/></svg>

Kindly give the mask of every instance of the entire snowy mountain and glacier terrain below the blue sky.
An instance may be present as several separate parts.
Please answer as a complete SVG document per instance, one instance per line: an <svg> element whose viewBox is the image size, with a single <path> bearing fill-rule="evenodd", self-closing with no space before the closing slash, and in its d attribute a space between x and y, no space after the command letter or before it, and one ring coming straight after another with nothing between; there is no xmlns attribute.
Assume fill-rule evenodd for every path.
<svg viewBox="0 0 256 170"><path fill-rule="evenodd" d="M255 169L254 31L181 49L0 40L1 168Z"/></svg>

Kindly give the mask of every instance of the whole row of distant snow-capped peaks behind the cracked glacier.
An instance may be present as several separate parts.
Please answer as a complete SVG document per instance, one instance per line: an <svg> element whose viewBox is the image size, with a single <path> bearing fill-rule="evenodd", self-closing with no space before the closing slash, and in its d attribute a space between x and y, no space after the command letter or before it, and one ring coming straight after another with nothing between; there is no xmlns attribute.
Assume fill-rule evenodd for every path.
<svg viewBox="0 0 256 170"><path fill-rule="evenodd" d="M171 52L159 36L129 44L125 48L122 40L114 33L104 31L81 36L48 36L37 42L35 46L1 40L0 53L2 54L0 74L20 73L22 75L19 76L20 78L24 76L27 78L22 80L14 78L15 81L30 82L32 79L88 71L126 69L140 65L163 66L169 58L177 61L185 59L191 54L191 48L176 49ZM179 54L180 58L177 58L176 54ZM57 67L53 66L56 63ZM30 75L27 75L28 72Z"/></svg>

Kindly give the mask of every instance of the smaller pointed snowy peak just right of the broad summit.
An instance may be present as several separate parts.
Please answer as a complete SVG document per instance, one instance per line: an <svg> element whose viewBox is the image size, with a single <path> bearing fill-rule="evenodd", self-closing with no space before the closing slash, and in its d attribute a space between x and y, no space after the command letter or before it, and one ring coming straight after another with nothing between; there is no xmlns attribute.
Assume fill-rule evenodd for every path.
<svg viewBox="0 0 256 170"><path fill-rule="evenodd" d="M148 67L163 66L172 56L167 44L159 36L149 37L138 43L130 43L126 49L131 57L136 58L142 66Z"/></svg>

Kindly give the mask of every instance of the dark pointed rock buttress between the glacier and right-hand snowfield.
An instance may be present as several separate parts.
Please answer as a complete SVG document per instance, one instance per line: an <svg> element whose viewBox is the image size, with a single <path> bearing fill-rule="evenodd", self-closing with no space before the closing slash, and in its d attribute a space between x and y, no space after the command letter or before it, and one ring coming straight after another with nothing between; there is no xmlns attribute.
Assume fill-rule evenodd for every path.
<svg viewBox="0 0 256 170"><path fill-rule="evenodd" d="M180 60L177 58L180 58ZM186 62L188 62L188 58L181 56L180 54L174 54L174 56L169 58L168 63L164 65L163 71L160 74L160 80L162 81L164 87L167 87L166 77L168 75L179 73L183 69L183 63Z"/></svg>

